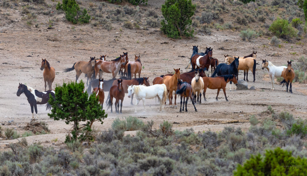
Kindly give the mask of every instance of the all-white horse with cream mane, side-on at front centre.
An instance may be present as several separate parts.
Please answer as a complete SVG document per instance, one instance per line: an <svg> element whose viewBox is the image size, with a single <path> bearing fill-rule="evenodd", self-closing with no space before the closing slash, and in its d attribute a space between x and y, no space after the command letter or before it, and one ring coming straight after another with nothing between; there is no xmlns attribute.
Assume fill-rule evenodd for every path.
<svg viewBox="0 0 307 176"><path fill-rule="evenodd" d="M137 112L136 106L138 106L138 103L140 102L140 100L143 101L144 112L145 112L146 111L145 99L152 99L154 97L158 97L160 101L159 111L162 111L162 104L168 98L167 88L165 84L155 84L152 86L143 86L143 85L128 86L128 98L130 98L131 94L133 93L136 97L136 104L135 104L134 112Z"/></svg>

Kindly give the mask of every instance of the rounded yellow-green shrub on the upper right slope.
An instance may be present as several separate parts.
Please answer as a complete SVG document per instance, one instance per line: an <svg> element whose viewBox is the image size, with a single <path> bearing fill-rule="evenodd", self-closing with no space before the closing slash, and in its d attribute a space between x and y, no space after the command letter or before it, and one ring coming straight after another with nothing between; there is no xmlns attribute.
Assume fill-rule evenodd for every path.
<svg viewBox="0 0 307 176"><path fill-rule="evenodd" d="M269 31L282 39L289 39L297 36L295 29L291 26L291 24L289 24L288 20L280 18L273 21Z"/></svg>

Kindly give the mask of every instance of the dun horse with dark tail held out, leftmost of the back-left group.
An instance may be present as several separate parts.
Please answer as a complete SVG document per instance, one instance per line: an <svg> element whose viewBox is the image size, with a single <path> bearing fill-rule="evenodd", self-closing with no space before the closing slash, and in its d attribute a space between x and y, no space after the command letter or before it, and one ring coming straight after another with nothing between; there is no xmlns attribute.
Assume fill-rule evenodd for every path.
<svg viewBox="0 0 307 176"><path fill-rule="evenodd" d="M88 80L91 79L95 79L97 74L95 75L95 70L94 70L94 66L96 64L96 60L95 57L90 57L91 60L89 62L85 62L85 61L78 61L75 62L74 65L72 66L72 68L68 68L68 69L64 69L65 72L70 72L72 70L76 70L76 82L79 83L79 77L81 75L81 73L85 73L87 75L87 81L86 81L86 85L88 85ZM102 60L100 60L102 61ZM91 81L90 80L90 81Z"/></svg>

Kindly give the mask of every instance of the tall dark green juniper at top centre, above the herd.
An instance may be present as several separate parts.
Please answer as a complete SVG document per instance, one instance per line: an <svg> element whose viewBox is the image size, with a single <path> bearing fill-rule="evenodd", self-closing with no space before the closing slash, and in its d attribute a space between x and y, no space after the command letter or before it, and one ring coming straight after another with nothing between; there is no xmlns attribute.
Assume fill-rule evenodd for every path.
<svg viewBox="0 0 307 176"><path fill-rule="evenodd" d="M166 0L162 4L162 15L165 20L161 21L161 31L170 38L180 36L193 36L194 30L190 28L190 19L195 12L196 6L191 0Z"/></svg>

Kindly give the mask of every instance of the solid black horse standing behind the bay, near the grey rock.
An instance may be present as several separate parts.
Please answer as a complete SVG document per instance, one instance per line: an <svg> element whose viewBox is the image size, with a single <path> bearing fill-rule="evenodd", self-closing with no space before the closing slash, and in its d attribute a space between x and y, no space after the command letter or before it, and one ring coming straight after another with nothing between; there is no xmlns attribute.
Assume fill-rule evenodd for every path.
<svg viewBox="0 0 307 176"><path fill-rule="evenodd" d="M215 77L215 75L221 76L221 75L228 75L228 74L238 75L238 67L239 67L239 58L235 57L235 61L231 62L231 64L229 65L225 63L219 64L216 67L211 77ZM232 84L232 81L230 81L229 90L231 90L231 84Z"/></svg>

